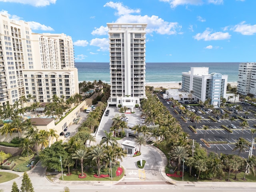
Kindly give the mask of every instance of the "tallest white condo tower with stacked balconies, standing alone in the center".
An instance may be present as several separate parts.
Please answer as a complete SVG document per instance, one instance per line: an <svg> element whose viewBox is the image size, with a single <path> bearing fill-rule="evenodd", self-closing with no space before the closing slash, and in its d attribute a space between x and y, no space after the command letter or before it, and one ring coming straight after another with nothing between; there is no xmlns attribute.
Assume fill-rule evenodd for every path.
<svg viewBox="0 0 256 192"><path fill-rule="evenodd" d="M108 23L110 52L109 105L133 110L145 93L147 24Z"/></svg>

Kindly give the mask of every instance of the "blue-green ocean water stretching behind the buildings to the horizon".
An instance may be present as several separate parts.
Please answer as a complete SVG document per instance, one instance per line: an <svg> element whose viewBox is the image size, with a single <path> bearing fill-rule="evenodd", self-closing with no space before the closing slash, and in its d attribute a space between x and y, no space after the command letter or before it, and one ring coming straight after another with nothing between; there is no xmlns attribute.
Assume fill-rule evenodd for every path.
<svg viewBox="0 0 256 192"><path fill-rule="evenodd" d="M110 83L109 62L76 62L78 81L102 80ZM205 63L146 63L146 82L181 82L182 72L188 72L190 67L209 67L209 73L217 72L228 75L228 82L237 82L239 62L205 62Z"/></svg>

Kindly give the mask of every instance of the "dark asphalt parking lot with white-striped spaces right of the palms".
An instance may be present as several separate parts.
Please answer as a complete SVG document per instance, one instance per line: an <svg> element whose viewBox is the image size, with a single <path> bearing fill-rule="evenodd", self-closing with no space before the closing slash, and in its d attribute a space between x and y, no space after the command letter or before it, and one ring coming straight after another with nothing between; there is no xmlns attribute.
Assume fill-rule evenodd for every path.
<svg viewBox="0 0 256 192"><path fill-rule="evenodd" d="M256 118L254 117L254 113L249 112L248 110L253 110L256 111L256 108L254 106L249 106L249 105L243 105L240 102L236 103L242 106L242 112L238 112L238 114L235 114L235 110L234 112L232 112L231 114L228 114L229 117L232 116L246 116L245 112L249 112L248 119L247 122L249 124L248 128L245 128L244 130L242 129L242 126L240 126L242 120L235 119L233 121L230 120L230 118L228 119L222 119L222 114L220 115L220 120L219 122L213 122L212 120L210 120L208 118L208 116L212 116L213 118L215 118L215 114L212 114L212 112L209 112L209 114L198 114L196 111L196 115L201 116L202 120L200 120L200 122L198 122L198 124L196 122L190 122L190 120L187 120L187 122L183 122L180 118L180 116L182 116L182 114L176 114L174 112L174 108L171 107L170 103L166 102L161 96L159 96L160 101L164 104L164 106L166 106L170 113L180 122L183 130L185 132L187 132L190 135L191 139L196 140L196 142L198 142L199 144L201 144L203 147L205 147L208 152L214 152L214 153L223 153L223 154L238 154L238 150L237 151L233 151L234 149L234 143L236 143L238 141L238 138L240 138L241 136L246 139L248 142L252 142L252 136L253 138L256 136L256 133L254 135L252 135L251 130L255 129L255 127L253 126L254 124L256 124ZM201 109L201 108L200 108ZM227 110L230 110L230 108L226 108ZM188 118L189 119L189 118ZM229 133L228 131L226 131L224 128L221 127L221 125L225 125L225 126L229 126L230 124L234 124L234 126L236 128L231 128L231 130L233 131L233 133ZM195 134L194 132L192 132L192 130L190 130L190 128L188 128L189 125L192 125L194 127L197 127L197 134ZM207 125L209 128L208 130L204 130L203 129L203 125ZM243 132L243 134L242 134ZM206 147L204 145L204 143L200 140L200 139L204 139L204 134L205 134L205 140L210 142L210 141L226 141L228 142L228 144L210 144L210 148ZM253 154L255 154L255 148L253 149ZM242 153L242 156L244 156L245 158L248 157L248 153L249 153L249 149L248 151L245 151Z"/></svg>

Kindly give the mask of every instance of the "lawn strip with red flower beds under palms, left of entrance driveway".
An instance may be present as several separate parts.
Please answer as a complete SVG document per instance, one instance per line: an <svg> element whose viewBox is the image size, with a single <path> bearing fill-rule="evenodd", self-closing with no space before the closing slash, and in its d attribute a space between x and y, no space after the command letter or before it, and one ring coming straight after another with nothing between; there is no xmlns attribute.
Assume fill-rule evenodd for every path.
<svg viewBox="0 0 256 192"><path fill-rule="evenodd" d="M116 172L116 168L112 168L112 172L113 175L115 175ZM95 178L93 175L94 173L91 172L84 172L87 176L86 178L80 179L78 178L78 175L81 173L81 170L73 170L71 171L72 175L71 176L63 176L65 181L111 181L110 177L106 177L106 178ZM55 177L56 175L53 176L47 176L49 179L51 179L52 177ZM118 181L120 180L122 177L124 176L124 171L122 172L122 174L120 176L117 177L112 177L113 181ZM60 176L59 178L60 180L62 180L62 176Z"/></svg>

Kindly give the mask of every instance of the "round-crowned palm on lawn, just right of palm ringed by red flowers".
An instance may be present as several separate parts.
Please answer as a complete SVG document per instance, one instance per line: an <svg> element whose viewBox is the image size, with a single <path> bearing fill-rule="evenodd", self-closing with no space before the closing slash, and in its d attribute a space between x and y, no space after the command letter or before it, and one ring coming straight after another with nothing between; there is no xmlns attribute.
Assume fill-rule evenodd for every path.
<svg viewBox="0 0 256 192"><path fill-rule="evenodd" d="M93 146L92 150L90 151L92 160L95 160L97 164L98 176L100 176L100 160L104 158L104 154L106 153L105 151L106 149L99 144Z"/></svg>

